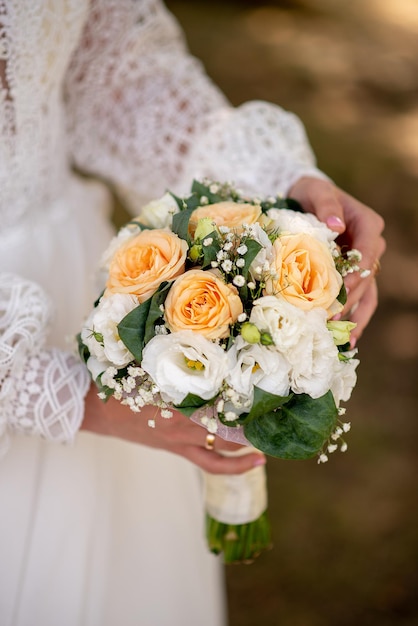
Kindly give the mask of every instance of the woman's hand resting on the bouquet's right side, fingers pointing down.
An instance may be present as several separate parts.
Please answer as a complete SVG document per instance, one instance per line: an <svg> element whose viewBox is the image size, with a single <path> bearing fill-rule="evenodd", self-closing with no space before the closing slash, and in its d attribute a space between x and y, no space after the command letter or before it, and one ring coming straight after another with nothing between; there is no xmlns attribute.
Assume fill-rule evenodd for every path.
<svg viewBox="0 0 418 626"><path fill-rule="evenodd" d="M375 276L386 248L382 237L383 218L333 183L318 178L300 178L288 195L300 202L305 211L314 213L331 230L340 233L339 245L359 250L361 268L370 270L366 278L356 272L344 280L348 298L342 316L357 324L351 335L354 347L377 307Z"/></svg>

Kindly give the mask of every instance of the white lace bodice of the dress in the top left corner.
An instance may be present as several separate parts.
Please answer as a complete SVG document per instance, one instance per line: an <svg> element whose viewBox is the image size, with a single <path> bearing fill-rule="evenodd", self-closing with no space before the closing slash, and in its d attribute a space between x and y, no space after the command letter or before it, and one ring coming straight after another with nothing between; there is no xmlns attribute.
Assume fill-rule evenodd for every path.
<svg viewBox="0 0 418 626"><path fill-rule="evenodd" d="M0 0L0 230L48 213L68 178L62 81L88 3ZM36 216L35 216L36 217Z"/></svg>

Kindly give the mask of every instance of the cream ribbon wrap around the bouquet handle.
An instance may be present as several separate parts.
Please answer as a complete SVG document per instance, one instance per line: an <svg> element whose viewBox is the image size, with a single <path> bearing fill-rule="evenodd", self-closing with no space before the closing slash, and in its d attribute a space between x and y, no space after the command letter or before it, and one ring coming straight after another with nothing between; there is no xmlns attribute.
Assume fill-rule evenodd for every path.
<svg viewBox="0 0 418 626"><path fill-rule="evenodd" d="M241 456L254 452L246 446L225 456ZM244 474L208 474L205 477L206 510L224 524L247 524L267 509L267 484L264 465L253 467Z"/></svg>

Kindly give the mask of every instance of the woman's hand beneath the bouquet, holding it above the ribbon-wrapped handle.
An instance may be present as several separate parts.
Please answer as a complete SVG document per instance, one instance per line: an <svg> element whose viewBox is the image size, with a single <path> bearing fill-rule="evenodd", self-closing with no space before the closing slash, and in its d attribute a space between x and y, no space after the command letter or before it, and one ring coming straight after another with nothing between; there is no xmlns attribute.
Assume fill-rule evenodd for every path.
<svg viewBox="0 0 418 626"><path fill-rule="evenodd" d="M155 428L148 425L149 420L155 421ZM207 431L177 411L173 411L173 417L163 418L154 406L134 413L113 398L104 403L98 398L94 384L86 397L81 428L179 454L212 474L241 474L266 462L261 452L232 458L222 456L221 451L241 446L220 437L215 437L213 449L207 449Z"/></svg>

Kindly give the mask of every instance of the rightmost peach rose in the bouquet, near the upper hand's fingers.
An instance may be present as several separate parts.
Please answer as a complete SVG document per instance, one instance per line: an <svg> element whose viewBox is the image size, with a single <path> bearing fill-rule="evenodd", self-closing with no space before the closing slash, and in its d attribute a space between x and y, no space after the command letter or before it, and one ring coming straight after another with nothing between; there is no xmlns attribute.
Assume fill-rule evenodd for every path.
<svg viewBox="0 0 418 626"><path fill-rule="evenodd" d="M329 317L342 309L336 300L341 274L328 246L315 237L304 233L278 237L270 271L265 294L283 297L305 311L321 307Z"/></svg>

